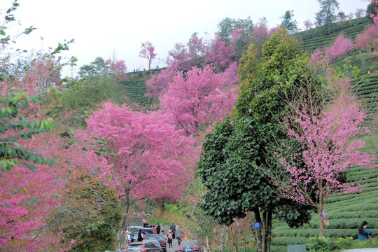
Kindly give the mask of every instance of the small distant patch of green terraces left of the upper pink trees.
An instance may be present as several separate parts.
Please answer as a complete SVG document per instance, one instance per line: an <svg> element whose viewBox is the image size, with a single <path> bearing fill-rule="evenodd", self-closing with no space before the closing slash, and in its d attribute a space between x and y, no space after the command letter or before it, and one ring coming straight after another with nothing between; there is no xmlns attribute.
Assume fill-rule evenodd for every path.
<svg viewBox="0 0 378 252"><path fill-rule="evenodd" d="M130 102L137 103L141 106L152 104L152 98L144 97L144 94L147 93L146 80L125 80L120 81L120 84L125 85L127 98Z"/></svg>

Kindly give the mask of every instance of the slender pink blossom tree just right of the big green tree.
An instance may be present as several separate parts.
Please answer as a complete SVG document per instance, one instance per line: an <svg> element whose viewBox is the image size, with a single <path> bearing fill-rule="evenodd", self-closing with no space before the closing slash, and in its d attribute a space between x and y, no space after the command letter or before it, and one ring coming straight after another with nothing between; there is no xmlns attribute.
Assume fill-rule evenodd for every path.
<svg viewBox="0 0 378 252"><path fill-rule="evenodd" d="M337 79L339 81L340 79ZM343 81L339 84L347 84ZM301 152L281 155L279 160L290 173L287 183L280 183L281 195L317 209L319 237L323 237L323 210L333 193L355 193L358 186L340 181L342 173L351 165L373 169L375 153L358 151L365 145L356 139L369 133L362 123L363 109L351 94L340 87L338 97L319 110L304 101L287 121L288 137L294 139ZM290 156L290 158L287 158Z"/></svg>

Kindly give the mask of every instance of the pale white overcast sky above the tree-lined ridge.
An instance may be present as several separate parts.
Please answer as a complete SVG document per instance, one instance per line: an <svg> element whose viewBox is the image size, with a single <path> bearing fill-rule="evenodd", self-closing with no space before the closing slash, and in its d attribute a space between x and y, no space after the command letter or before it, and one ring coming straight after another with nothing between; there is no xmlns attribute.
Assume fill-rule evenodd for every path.
<svg viewBox="0 0 378 252"><path fill-rule="evenodd" d="M357 8L366 9L368 0L338 0L339 11L346 15ZM0 0L0 9L10 7L12 0ZM65 39L75 40L62 56L78 58L78 66L64 69L63 76L75 76L83 64L96 57L123 59L128 71L148 69L146 59L139 57L141 43L150 41L158 53L151 68L164 66L175 43L186 44L190 36L214 38L218 22L223 18L248 18L254 23L266 18L269 27L281 23L286 10L293 10L298 27L304 20L314 22L320 10L316 0L18 0L20 6L13 32L25 27L37 29L18 38L19 48L47 51ZM268 4L267 4L268 3ZM3 13L3 11L2 11ZM41 39L43 38L43 39Z"/></svg>

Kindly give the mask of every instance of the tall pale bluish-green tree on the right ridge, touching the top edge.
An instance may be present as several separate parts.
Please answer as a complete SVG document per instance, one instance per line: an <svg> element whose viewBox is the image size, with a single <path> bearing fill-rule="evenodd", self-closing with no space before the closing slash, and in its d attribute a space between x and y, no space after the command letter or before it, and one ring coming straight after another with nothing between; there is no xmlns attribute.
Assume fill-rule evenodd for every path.
<svg viewBox="0 0 378 252"><path fill-rule="evenodd" d="M337 0L318 0L321 10L315 15L316 27L323 26L325 32L328 32L332 22L336 20L336 10L339 9L339 2Z"/></svg>

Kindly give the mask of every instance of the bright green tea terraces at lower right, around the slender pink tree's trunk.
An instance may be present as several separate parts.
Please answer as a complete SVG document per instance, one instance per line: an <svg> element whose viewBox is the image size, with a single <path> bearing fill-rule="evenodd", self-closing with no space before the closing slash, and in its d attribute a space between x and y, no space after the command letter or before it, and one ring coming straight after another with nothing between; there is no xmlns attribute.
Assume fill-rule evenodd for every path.
<svg viewBox="0 0 378 252"><path fill-rule="evenodd" d="M366 140L363 151L378 152L377 137ZM370 170L353 167L348 170L351 182L360 184L363 193L349 195L331 195L325 211L330 219L329 227L325 227L325 237L354 237L363 221L369 223L374 234L378 232L378 169ZM303 228L288 228L286 223L275 221L272 251L287 251L288 244L305 244L309 237L318 236L318 215L313 214L309 225Z"/></svg>

